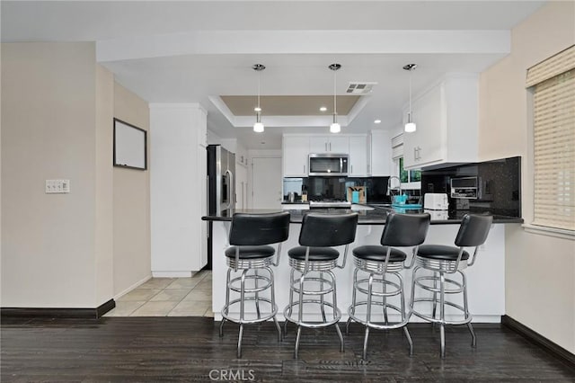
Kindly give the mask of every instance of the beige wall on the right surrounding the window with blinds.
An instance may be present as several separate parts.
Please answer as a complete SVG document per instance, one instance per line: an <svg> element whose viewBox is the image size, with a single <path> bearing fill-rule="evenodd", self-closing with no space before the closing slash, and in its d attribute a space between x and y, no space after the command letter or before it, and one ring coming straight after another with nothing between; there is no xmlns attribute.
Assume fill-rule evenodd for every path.
<svg viewBox="0 0 575 383"><path fill-rule="evenodd" d="M522 209L533 219L526 69L575 44L575 3L545 4L512 31L511 54L482 73L479 156L522 156ZM511 227L506 236L506 312L575 352L575 242Z"/></svg>

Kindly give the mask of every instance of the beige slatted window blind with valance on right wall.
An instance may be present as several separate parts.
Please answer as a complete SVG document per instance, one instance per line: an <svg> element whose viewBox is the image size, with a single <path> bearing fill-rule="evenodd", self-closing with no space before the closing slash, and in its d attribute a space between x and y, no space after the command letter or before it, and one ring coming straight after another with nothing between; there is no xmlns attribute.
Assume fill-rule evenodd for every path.
<svg viewBox="0 0 575 383"><path fill-rule="evenodd" d="M558 58L561 56L561 58ZM565 60L571 57L570 60ZM564 64L561 70L561 63ZM530 68L534 86L534 225L575 230L575 46ZM565 70L567 69L567 70ZM532 73L533 71L533 73ZM533 85L533 84L532 84Z"/></svg>

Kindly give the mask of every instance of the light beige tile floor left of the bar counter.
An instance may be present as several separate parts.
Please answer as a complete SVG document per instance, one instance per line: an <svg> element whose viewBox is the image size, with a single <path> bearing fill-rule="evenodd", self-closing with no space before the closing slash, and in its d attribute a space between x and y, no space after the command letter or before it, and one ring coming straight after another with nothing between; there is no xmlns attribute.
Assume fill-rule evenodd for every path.
<svg viewBox="0 0 575 383"><path fill-rule="evenodd" d="M190 278L152 278L116 300L104 316L214 316L212 272Z"/></svg>

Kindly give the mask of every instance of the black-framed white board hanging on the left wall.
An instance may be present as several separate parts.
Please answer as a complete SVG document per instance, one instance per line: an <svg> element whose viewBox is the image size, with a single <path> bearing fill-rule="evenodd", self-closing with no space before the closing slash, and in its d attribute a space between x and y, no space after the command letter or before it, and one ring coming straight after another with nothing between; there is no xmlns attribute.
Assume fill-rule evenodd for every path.
<svg viewBox="0 0 575 383"><path fill-rule="evenodd" d="M113 165L147 170L147 131L114 119Z"/></svg>

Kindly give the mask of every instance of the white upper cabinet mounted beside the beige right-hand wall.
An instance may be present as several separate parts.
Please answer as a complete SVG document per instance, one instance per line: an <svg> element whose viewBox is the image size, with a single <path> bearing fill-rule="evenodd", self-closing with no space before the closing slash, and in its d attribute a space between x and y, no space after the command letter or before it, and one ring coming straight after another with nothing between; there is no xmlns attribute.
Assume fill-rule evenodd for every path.
<svg viewBox="0 0 575 383"><path fill-rule="evenodd" d="M477 161L478 76L447 76L411 104L417 130L403 135L406 169Z"/></svg>

